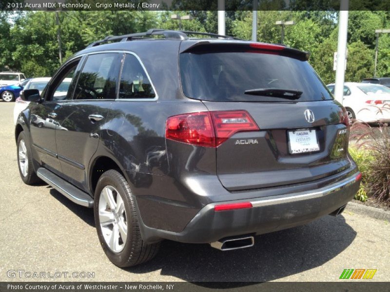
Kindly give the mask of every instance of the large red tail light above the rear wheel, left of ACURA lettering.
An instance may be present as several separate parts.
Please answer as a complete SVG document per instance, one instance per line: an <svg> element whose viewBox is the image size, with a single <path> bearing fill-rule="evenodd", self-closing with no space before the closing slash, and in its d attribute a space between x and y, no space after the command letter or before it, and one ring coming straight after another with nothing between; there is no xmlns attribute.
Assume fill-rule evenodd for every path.
<svg viewBox="0 0 390 292"><path fill-rule="evenodd" d="M246 110L202 111L168 118L165 137L198 146L217 147L237 132L258 130Z"/></svg>

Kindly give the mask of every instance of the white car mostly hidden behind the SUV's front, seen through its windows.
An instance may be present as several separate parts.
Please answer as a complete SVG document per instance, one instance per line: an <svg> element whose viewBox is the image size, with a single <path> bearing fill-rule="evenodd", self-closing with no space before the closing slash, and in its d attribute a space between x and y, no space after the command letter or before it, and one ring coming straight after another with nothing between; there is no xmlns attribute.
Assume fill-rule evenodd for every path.
<svg viewBox="0 0 390 292"><path fill-rule="evenodd" d="M42 94L42 91L46 87L47 83L50 81L50 77L39 77L39 78L32 78L23 88L23 91L26 89L38 89L39 94ZM60 84L57 91L54 93L54 97L58 98L59 100L62 100L66 93L68 92L69 85L72 81L72 78L65 78L64 81ZM23 93L23 91L20 91L20 95ZM21 99L21 97L18 97L15 101L15 107L14 107L14 124L16 125L16 121L18 120L18 116L20 114L20 111L26 109L28 105L30 104L29 101L24 101Z"/></svg>

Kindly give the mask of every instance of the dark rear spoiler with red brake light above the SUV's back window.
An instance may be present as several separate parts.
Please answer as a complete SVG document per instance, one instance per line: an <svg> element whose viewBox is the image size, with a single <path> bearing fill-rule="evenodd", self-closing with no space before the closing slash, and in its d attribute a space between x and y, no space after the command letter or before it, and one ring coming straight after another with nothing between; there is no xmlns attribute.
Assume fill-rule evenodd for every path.
<svg viewBox="0 0 390 292"><path fill-rule="evenodd" d="M286 47L279 44L268 44L260 42L237 42L237 41L198 41L190 47L184 49L181 53L206 53L206 52L249 52L284 55L299 59L301 61L309 60L310 53Z"/></svg>

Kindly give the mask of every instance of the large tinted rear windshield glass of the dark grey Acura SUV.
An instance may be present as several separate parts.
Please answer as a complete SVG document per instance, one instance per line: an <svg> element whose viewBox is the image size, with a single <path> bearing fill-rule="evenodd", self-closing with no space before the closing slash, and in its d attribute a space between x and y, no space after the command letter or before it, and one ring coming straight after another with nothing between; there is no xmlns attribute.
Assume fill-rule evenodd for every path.
<svg viewBox="0 0 390 292"><path fill-rule="evenodd" d="M307 61L250 52L182 53L183 93L207 101L286 102L286 98L245 94L255 89L302 91L294 101L333 99Z"/></svg>

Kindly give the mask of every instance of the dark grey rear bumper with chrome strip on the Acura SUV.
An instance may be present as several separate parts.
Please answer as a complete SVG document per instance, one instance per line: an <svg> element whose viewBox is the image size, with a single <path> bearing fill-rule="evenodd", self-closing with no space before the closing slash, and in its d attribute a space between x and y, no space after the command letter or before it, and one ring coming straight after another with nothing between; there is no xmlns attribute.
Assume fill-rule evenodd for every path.
<svg viewBox="0 0 390 292"><path fill-rule="evenodd" d="M264 234L308 223L347 204L358 191L359 172L352 176L301 193L289 193L258 199L215 202L204 206L181 232L141 226L146 242L162 238L187 243L209 243L223 237ZM215 205L252 203L252 208L215 211Z"/></svg>

